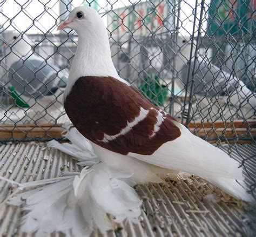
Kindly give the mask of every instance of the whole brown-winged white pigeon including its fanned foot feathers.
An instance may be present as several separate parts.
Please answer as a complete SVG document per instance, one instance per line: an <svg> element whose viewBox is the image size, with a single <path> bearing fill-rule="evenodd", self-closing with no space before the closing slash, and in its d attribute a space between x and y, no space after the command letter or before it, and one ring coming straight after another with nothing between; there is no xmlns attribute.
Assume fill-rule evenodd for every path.
<svg viewBox="0 0 256 237"><path fill-rule="evenodd" d="M75 128L68 126L66 134L72 144L48 145L85 167L63 177L22 184L0 176L16 186L5 203L23 205L26 211L22 232L90 236L98 228L105 235L112 222L136 224L142 200L132 186L163 182L161 175L179 171L196 174L236 198L253 200L243 188L237 161L194 136L118 76L97 11L86 6L73 9L58 26L64 28L76 30L79 37L63 96Z"/></svg>

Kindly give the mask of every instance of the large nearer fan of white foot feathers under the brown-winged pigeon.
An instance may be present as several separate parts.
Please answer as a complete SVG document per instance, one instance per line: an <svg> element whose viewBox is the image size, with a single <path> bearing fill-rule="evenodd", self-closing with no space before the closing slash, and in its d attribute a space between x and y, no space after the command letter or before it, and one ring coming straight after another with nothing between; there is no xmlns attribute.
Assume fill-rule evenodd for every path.
<svg viewBox="0 0 256 237"><path fill-rule="evenodd" d="M126 183L130 182L130 176L99 163L83 168L79 176L18 184L7 202L14 206L24 204L22 210L26 214L22 217L22 232L36 232L36 236L52 232L90 236L93 229L99 228L104 234L113 228L111 219L138 222L142 201ZM28 188L30 190L25 191Z"/></svg>

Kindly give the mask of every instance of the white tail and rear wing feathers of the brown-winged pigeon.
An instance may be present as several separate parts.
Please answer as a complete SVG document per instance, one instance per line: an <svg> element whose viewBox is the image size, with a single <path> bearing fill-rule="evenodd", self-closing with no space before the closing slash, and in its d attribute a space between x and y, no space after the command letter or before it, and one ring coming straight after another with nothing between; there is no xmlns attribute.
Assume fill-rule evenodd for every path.
<svg viewBox="0 0 256 237"><path fill-rule="evenodd" d="M252 200L246 187L242 167L224 151L194 136L185 126L174 121L181 130L181 136L163 144L152 155L129 153L133 158L164 168L196 174L224 189L235 198ZM239 180L240 184L236 180Z"/></svg>

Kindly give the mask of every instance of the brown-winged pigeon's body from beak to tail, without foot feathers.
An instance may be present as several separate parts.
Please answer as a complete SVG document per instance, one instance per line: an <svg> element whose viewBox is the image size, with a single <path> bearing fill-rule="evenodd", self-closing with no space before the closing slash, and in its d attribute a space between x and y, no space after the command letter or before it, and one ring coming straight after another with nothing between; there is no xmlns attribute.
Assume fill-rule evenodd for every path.
<svg viewBox="0 0 256 237"><path fill-rule="evenodd" d="M235 198L252 201L239 162L194 136L118 76L107 29L97 11L87 6L73 9L58 26L58 30L66 28L76 31L78 46L64 91L64 109L91 141L100 161L131 172L137 184L159 182L159 172L182 171Z"/></svg>

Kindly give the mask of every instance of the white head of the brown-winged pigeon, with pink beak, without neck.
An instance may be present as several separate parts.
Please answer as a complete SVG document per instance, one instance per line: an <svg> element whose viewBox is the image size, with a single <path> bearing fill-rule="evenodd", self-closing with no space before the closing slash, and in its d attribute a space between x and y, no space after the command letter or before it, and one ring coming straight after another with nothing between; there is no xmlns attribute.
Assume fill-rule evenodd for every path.
<svg viewBox="0 0 256 237"><path fill-rule="evenodd" d="M98 33L106 33L106 27L99 13L89 6L74 8L67 21L60 24L57 30L64 28L73 29L78 36L96 36Z"/></svg>

